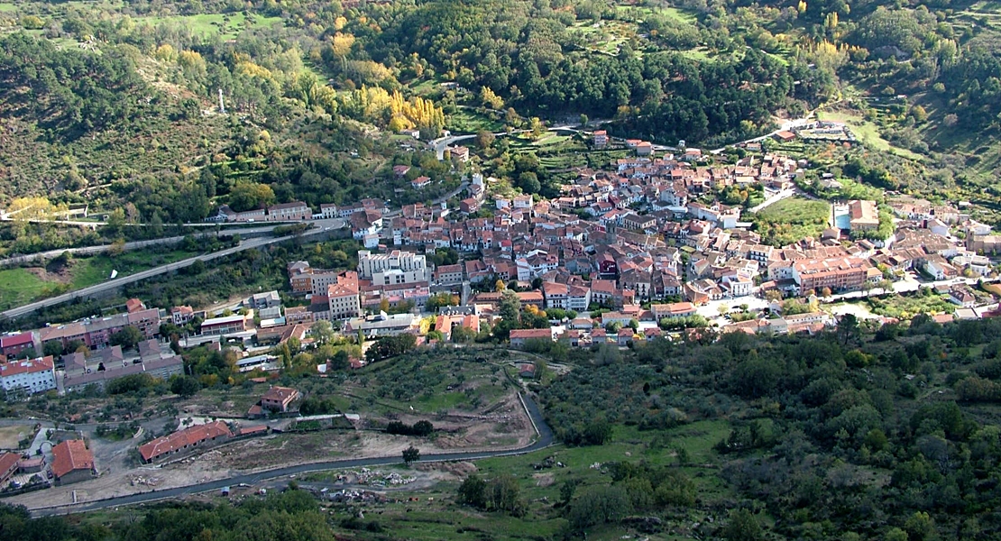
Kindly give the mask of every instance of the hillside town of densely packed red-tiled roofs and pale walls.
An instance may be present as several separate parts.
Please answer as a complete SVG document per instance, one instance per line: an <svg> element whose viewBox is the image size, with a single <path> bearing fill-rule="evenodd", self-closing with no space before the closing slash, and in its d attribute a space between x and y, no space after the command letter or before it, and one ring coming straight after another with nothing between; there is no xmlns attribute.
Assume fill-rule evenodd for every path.
<svg viewBox="0 0 1001 541"><path fill-rule="evenodd" d="M611 144L602 131L592 137L595 146ZM4 355L22 360L3 366L3 386L64 393L133 372L168 378L182 361L157 341L165 338L161 323L195 324L181 347L245 344L238 361L244 371L279 368L270 348L291 338L303 343L321 320L369 339L414 334L424 341L436 331L429 341L448 341L456 327L475 336L499 317L506 290L523 309L560 316L549 317L549 328L512 330L515 346L542 338L625 347L705 326L813 333L837 319L822 303L922 286L957 306L939 319L995 314L993 297L975 286L996 276L989 256L1001 235L960 208L907 197L834 201L821 235L774 246L749 214L794 195L812 197L803 190L804 160L764 151L720 165L699 149L656 157L643 143L626 141L636 156L607 168L578 168L550 199L495 193L495 179L469 171L457 208L416 203L390 211L365 199L317 212L287 204L251 218L223 207L220 220L343 218L364 249L351 270L290 262L287 292L254 294L227 309L146 308L133 299L118 315L5 335ZM461 150L451 156L467 156ZM819 183L837 185L830 177ZM760 193L764 203L749 211L721 202L734 187ZM887 219L892 233L880 238ZM430 256L438 252L454 260L435 265ZM129 354L111 343L126 327L139 331ZM95 353L76 352L81 346Z"/></svg>

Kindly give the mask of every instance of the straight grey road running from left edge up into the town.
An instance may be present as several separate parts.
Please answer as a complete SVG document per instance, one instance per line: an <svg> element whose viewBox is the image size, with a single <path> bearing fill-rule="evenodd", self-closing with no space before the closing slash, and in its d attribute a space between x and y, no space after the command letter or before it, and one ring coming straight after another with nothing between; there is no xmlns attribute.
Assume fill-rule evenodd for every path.
<svg viewBox="0 0 1001 541"><path fill-rule="evenodd" d="M318 227L314 227L302 234L303 237L308 237L312 235L318 235L324 231L330 229L337 229L343 227L345 222L340 218L333 220L314 220L310 222ZM325 225L325 227L323 227ZM261 246L266 246L268 244L274 244L277 242L284 242L293 238L293 235L285 235L282 237L271 237L271 238L259 238L259 239L249 239L241 241L238 246L233 246L232 248L226 248L224 250L219 250L218 252L212 252L209 254L202 254L194 257L189 257L188 259L183 259L176 263L169 263L167 265L161 265L152 269L137 272L135 274L130 274L128 276L123 276L121 278L115 278L114 280L108 280L100 284L92 285L90 287L85 287L76 291L71 291L57 297L52 297L49 299L44 299L38 302L33 302L31 304L26 304L24 306L19 306L17 308L11 308L5 312L0 312L0 318L17 318L25 314L30 314L41 308L47 308L49 306L55 306L57 304L62 304L64 302L71 301L78 298L86 298L91 295L96 295L104 291L113 290L121 286L138 282L140 280L145 280L153 276L157 276L166 272L175 271L188 267L194 264L195 261L211 261L213 259L218 259L220 257L225 257L228 255L235 254L237 252L242 252L244 250L249 250L250 248L259 248Z"/></svg>

